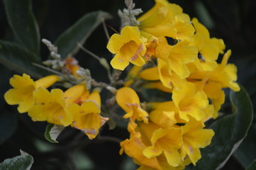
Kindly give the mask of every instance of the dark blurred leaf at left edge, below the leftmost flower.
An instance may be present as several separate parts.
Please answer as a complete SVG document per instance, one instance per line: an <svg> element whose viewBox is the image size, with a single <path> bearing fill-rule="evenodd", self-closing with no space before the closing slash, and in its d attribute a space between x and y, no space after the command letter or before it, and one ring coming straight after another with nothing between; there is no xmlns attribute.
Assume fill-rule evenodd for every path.
<svg viewBox="0 0 256 170"><path fill-rule="evenodd" d="M0 145L9 139L17 128L17 118L13 113L0 113Z"/></svg>

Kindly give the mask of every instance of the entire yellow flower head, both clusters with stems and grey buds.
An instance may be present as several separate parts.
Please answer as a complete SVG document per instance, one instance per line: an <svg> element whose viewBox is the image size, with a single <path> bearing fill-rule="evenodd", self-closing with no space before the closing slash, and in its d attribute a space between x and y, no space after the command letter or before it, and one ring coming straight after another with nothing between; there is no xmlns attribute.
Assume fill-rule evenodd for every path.
<svg viewBox="0 0 256 170"><path fill-rule="evenodd" d="M214 135L205 123L218 118L225 101L223 89L240 90L235 82L237 69L228 64L231 51L225 52L223 40L211 38L207 28L177 4L155 0L155 6L138 20L135 16L142 10L132 0L126 0L126 6L118 12L121 32L113 34L107 45L115 70L111 72L104 58L91 55L107 70L109 84L92 79L89 69L80 67L73 57L62 60L57 47L43 40L53 60L40 67L56 75L37 81L27 74L14 75L13 89L4 98L18 105L19 113L28 112L33 121L70 125L91 140L111 115L120 115L117 103L126 113L122 119L127 120L130 133L120 144L120 154L132 157L140 170L195 165L201 158L200 148L210 145ZM120 74L125 69L128 74L123 81ZM104 88L108 95L101 109ZM161 91L164 100L144 98L148 101L141 103L138 92L145 89ZM101 110L108 118L101 116Z"/></svg>

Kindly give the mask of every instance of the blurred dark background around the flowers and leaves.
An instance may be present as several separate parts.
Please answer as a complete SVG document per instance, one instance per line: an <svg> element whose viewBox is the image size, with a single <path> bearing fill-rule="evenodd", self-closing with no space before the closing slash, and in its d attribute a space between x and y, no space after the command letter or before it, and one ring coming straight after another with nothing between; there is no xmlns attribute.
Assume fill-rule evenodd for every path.
<svg viewBox="0 0 256 170"><path fill-rule="evenodd" d="M134 1L137 8L148 11L154 4L153 0ZM226 43L226 50L231 49L232 55L229 62L238 67L238 82L245 86L253 107L256 105L256 1L254 0L176 0L170 1L179 4L191 18L199 18L211 33L211 37L222 38ZM107 25L119 29L120 20L117 15L118 9L125 7L121 0L33 0L33 12L40 28L40 38L46 38L54 42L75 21L90 11L107 11L113 18L106 21ZM108 28L110 34L113 30ZM0 0L0 39L15 42L13 33L6 20L4 4ZM111 54L106 50L106 35L102 26L99 26L84 44L100 57L105 57L108 61ZM41 43L40 54L43 60L48 57L48 49ZM82 67L91 70L92 77L98 81L107 81L104 69L96 67L96 62L92 57L84 52L77 54L77 60ZM104 73L104 74L101 74ZM43 133L46 123L33 123L26 113L18 114L16 107L11 107L4 101L4 93L11 86L9 78L16 72L7 69L0 64L1 84L0 84L0 109L1 119L6 120L0 128L12 134L8 140L0 143L0 162L4 159L19 155L19 149L28 152L34 157L32 169L135 169L131 159L125 154L120 156L118 142L111 139L96 140L89 142L84 135L79 136L79 131L67 128L60 136L60 144L50 144L45 140ZM245 145L255 137L255 119L250 130L250 139L245 139ZM116 137L121 140L128 137L126 129L116 128L108 130L106 125L101 132L102 136ZM74 137L84 140L79 147L73 148L70 143L74 142ZM1 135L0 135L1 138ZM248 138L248 137L247 137ZM81 145L81 146L80 146ZM255 143L256 145L256 143ZM255 151L255 145L251 147L251 152ZM69 148L70 147L70 148ZM246 146L243 146L246 147ZM65 149L62 149L65 148ZM75 154L69 154L72 149ZM249 149L250 151L250 149ZM255 153L254 152L254 153ZM72 162L75 157L75 162ZM76 165L74 165L76 164ZM231 157L223 169L244 169L239 157Z"/></svg>

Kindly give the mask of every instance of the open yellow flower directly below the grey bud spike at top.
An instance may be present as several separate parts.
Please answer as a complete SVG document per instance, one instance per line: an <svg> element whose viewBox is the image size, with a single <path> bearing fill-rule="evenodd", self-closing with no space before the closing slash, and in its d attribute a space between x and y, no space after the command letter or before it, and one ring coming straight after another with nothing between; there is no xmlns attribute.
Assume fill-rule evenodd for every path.
<svg viewBox="0 0 256 170"><path fill-rule="evenodd" d="M145 64L143 56L146 47L140 38L140 30L135 26L126 26L121 34L113 34L108 42L107 48L115 57L111 60L114 69L125 69L129 62L142 66Z"/></svg>

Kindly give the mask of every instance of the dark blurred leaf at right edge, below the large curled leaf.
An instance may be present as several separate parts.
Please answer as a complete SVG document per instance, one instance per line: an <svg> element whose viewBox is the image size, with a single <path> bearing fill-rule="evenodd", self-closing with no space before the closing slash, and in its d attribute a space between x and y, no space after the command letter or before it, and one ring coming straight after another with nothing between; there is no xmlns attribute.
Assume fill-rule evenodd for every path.
<svg viewBox="0 0 256 170"><path fill-rule="evenodd" d="M246 168L256 159L256 125L252 125L247 137L235 152L235 158Z"/></svg>

